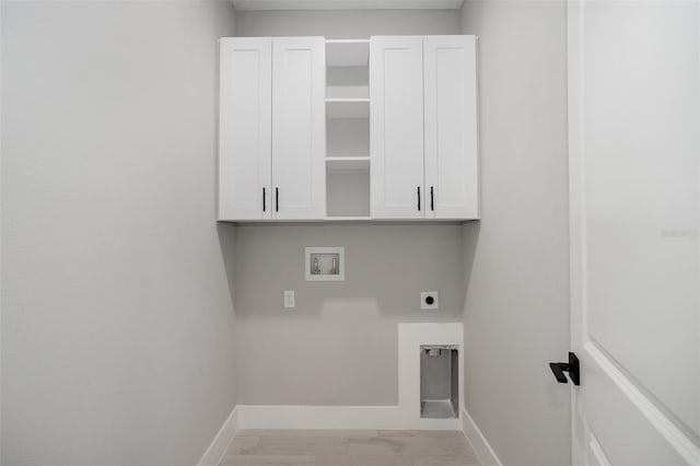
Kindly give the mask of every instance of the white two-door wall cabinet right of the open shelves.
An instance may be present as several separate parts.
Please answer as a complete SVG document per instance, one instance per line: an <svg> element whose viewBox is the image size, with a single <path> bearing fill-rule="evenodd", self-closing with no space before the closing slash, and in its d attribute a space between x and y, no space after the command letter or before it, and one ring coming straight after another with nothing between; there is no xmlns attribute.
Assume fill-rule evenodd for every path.
<svg viewBox="0 0 700 466"><path fill-rule="evenodd" d="M479 215L476 38L370 42L373 219Z"/></svg>

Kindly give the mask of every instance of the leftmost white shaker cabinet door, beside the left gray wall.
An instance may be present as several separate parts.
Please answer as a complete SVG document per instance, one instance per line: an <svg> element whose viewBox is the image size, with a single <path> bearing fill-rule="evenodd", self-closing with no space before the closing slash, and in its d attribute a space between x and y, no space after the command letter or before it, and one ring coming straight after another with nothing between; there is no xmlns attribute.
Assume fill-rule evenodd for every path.
<svg viewBox="0 0 700 466"><path fill-rule="evenodd" d="M220 42L219 220L270 218L271 44Z"/></svg>

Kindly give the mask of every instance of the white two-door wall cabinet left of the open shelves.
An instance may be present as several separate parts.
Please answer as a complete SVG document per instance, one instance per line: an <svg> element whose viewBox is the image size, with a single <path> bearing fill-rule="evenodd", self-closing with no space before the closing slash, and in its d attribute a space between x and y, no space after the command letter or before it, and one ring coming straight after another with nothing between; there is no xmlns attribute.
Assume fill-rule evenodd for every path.
<svg viewBox="0 0 700 466"><path fill-rule="evenodd" d="M325 40L221 39L219 220L320 220Z"/></svg>

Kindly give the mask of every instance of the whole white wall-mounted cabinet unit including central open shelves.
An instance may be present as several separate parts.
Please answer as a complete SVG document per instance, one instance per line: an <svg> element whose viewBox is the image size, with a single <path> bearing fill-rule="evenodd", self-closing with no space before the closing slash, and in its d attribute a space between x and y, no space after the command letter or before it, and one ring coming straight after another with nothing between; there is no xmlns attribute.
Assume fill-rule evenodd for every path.
<svg viewBox="0 0 700 466"><path fill-rule="evenodd" d="M476 75L474 36L221 39L219 220L478 219Z"/></svg>

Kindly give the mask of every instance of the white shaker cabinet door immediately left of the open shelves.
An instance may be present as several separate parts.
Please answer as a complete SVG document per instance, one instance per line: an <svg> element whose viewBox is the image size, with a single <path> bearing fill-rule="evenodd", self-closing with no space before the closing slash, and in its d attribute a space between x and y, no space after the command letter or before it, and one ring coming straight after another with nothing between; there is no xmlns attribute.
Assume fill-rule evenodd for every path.
<svg viewBox="0 0 700 466"><path fill-rule="evenodd" d="M326 214L326 44L272 38L273 218Z"/></svg>

